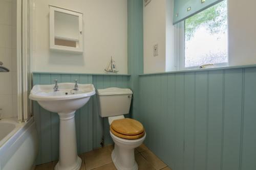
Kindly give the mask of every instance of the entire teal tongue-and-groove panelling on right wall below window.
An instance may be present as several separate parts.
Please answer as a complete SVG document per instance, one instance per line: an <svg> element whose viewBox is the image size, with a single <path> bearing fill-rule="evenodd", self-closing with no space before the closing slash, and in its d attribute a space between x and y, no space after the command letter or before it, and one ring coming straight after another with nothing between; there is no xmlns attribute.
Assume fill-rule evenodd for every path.
<svg viewBox="0 0 256 170"><path fill-rule="evenodd" d="M140 76L136 117L173 170L256 169L256 67Z"/></svg>

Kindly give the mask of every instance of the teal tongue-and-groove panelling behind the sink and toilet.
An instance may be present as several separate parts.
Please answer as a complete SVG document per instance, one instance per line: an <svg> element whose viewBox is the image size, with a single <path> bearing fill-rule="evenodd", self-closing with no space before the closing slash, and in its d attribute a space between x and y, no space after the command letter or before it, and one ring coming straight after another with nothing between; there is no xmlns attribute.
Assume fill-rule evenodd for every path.
<svg viewBox="0 0 256 170"><path fill-rule="evenodd" d="M130 76L116 75L82 75L82 74L33 74L33 84L53 84L59 82L74 82L81 84L93 83L97 88L120 87L128 88ZM36 129L39 138L39 153L36 164L58 160L59 154L59 116L41 108L37 102L33 102ZM104 121L103 121L104 120ZM108 119L98 114L96 95L75 113L77 152L84 153L101 147L100 142L104 136L104 144L112 143L109 136Z"/></svg>

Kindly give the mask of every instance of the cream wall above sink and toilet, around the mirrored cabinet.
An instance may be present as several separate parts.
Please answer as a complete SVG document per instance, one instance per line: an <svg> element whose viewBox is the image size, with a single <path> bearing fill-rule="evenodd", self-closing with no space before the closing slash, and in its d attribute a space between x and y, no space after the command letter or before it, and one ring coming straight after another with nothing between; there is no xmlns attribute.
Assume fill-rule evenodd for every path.
<svg viewBox="0 0 256 170"><path fill-rule="evenodd" d="M127 0L34 0L33 71L104 73L111 56L127 73ZM49 5L83 12L84 53L49 50Z"/></svg>

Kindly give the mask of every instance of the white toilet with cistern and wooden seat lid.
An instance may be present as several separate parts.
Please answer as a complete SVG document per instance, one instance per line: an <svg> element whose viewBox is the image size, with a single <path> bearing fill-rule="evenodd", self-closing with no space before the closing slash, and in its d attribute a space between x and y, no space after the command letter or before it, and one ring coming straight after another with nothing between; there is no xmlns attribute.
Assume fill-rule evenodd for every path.
<svg viewBox="0 0 256 170"><path fill-rule="evenodd" d="M110 135L115 142L112 161L118 170L137 170L134 149L142 144L146 137L141 123L131 118L129 114L133 92L130 89L106 88L97 90L99 115L108 117Z"/></svg>

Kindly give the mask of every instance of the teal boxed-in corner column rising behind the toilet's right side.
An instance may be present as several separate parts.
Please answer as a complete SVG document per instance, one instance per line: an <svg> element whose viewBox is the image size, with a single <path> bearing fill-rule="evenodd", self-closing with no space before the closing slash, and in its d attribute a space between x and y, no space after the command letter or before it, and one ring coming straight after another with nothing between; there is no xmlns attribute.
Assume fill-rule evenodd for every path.
<svg viewBox="0 0 256 170"><path fill-rule="evenodd" d="M143 74L143 1L128 0L128 73L133 90L131 115L139 113L139 74Z"/></svg>

